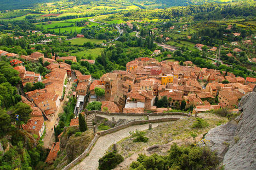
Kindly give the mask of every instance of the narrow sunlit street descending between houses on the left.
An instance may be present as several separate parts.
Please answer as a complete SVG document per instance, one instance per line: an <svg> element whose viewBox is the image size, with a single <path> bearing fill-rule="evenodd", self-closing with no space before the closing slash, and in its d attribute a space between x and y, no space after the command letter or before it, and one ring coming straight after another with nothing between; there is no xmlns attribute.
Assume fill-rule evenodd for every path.
<svg viewBox="0 0 256 170"><path fill-rule="evenodd" d="M53 118L51 120L44 121L45 122L45 136L43 138L44 142L44 148L52 148L53 143L55 142L54 138L54 125L57 126L59 124L59 119L58 115L59 113L63 112L63 106L65 101L68 101L69 99L67 96L69 95L69 91L71 90L72 84L74 83L75 80L75 75L72 74L72 78L70 81L67 82L67 87L66 87L66 93L64 96L64 99L62 100L59 109L54 113Z"/></svg>

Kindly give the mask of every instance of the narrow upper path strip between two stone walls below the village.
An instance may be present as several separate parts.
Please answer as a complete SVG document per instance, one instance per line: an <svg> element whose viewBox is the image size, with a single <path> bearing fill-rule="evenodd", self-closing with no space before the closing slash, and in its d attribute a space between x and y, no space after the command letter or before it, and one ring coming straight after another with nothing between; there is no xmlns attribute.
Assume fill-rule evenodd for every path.
<svg viewBox="0 0 256 170"><path fill-rule="evenodd" d="M116 121L118 121L118 119L126 119L126 120L134 120L134 119L145 119L146 116L126 116L126 115L115 115L115 116L111 116L111 115L104 115L104 114L96 114L96 116L100 116L102 118L106 118L109 120L112 120L112 117L115 118ZM150 120L154 120L154 119L160 119L160 118L187 118L187 116L181 116L181 115L161 115L161 116L149 116Z"/></svg>

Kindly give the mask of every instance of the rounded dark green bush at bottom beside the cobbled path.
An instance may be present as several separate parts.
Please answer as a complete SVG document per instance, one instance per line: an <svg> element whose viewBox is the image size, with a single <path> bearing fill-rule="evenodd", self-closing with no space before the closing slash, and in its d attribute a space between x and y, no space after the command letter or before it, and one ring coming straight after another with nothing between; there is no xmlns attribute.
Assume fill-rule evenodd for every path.
<svg viewBox="0 0 256 170"><path fill-rule="evenodd" d="M116 151L113 151L99 159L99 170L113 169L121 162L123 162L122 155L116 153Z"/></svg>

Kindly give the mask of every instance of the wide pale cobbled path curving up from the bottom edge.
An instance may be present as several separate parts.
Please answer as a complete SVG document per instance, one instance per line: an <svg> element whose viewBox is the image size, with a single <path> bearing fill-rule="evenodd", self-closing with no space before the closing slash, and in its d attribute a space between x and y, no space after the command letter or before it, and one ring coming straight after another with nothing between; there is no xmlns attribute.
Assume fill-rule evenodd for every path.
<svg viewBox="0 0 256 170"><path fill-rule="evenodd" d="M163 123L156 123L152 124L152 127L157 127L158 125ZM123 138L126 138L130 136L129 132L139 130L144 131L149 128L149 124L145 125L135 125L127 127L123 130L106 134L105 136L100 137L95 145L93 146L93 149L90 151L90 154L78 165L73 167L73 170L96 170L99 166L99 159L103 157L107 151L107 148L109 148L112 144L117 143Z"/></svg>

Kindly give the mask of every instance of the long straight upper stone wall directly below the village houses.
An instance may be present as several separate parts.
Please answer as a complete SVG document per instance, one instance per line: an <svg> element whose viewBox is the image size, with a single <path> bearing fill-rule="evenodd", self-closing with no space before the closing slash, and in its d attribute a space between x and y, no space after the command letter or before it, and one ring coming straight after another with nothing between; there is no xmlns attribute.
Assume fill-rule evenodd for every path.
<svg viewBox="0 0 256 170"><path fill-rule="evenodd" d="M181 116L191 116L190 114L183 113L183 112L170 112L170 113L108 113L108 112L101 112L98 110L88 111L87 114L104 114L110 116L163 116L163 115L181 115Z"/></svg>

